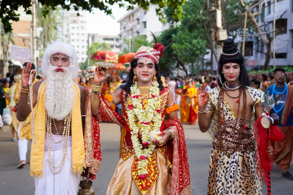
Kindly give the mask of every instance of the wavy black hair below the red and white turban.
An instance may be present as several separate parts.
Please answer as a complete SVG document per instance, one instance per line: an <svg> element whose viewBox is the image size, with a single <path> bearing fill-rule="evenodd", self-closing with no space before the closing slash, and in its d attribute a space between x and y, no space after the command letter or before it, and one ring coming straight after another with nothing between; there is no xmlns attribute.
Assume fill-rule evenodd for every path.
<svg viewBox="0 0 293 195"><path fill-rule="evenodd" d="M134 72L133 72L133 68L137 67L137 60L138 58L134 58L132 59L131 63L130 63L130 71L129 71L129 75L128 75L128 81L125 85L123 85L121 88L123 90L126 91L126 94L125 94L125 98L127 97L127 94L129 94L130 92L130 87L134 84L133 83L133 77L134 77ZM164 89L164 86L163 86L163 83L161 81L161 74L160 74L160 70L159 70L159 65L155 63L155 70L156 70L156 78L157 78L157 81L159 83L159 89L162 90Z"/></svg>

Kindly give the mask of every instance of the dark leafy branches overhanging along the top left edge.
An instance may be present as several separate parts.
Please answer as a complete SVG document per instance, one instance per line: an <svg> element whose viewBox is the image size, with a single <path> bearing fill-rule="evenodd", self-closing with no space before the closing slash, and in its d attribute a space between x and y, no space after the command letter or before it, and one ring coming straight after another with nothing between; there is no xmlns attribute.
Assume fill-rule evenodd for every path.
<svg viewBox="0 0 293 195"><path fill-rule="evenodd" d="M135 5L147 9L150 4L158 5L156 10L157 15L163 20L164 8L167 6L173 9L172 16L175 20L179 20L182 9L181 5L185 3L186 0L109 0L109 1L80 1L80 0L60 0L60 1L48 1L48 0L39 0L38 2L41 5L46 6L44 15L46 16L50 9L55 9L57 5L61 5L63 9L69 10L70 7L74 7L75 10L82 8L84 10L92 11L93 8L98 8L104 11L106 14L112 16L112 10L109 5L118 4L120 7L127 7L128 10L133 9ZM31 14L31 0L1 0L0 8L0 19L3 23L5 32L11 32L11 21L19 21L19 15L16 14L16 11L19 7L23 7L27 14Z"/></svg>

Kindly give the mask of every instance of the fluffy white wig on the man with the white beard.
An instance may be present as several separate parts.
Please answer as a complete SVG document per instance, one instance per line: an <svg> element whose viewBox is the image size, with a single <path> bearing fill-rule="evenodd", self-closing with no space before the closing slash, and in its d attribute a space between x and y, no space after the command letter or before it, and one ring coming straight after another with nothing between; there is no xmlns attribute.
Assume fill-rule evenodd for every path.
<svg viewBox="0 0 293 195"><path fill-rule="evenodd" d="M70 65L69 65L69 70L72 75L72 79L76 78L78 76L78 70L79 70L79 65L77 63L77 55L72 47L72 45L68 43L64 43L61 41L56 41L52 44L50 44L44 51L44 55L42 57L42 73L45 77L47 77L47 73L49 70L50 66L50 58L53 54L55 53L62 53L67 55L70 58Z"/></svg>

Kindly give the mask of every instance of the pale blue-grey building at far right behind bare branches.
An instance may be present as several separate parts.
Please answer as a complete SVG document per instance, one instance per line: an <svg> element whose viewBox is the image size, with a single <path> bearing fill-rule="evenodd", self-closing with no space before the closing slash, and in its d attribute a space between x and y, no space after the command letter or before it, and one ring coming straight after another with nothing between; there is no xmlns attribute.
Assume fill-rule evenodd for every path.
<svg viewBox="0 0 293 195"><path fill-rule="evenodd" d="M262 14L257 21L263 32L273 35L274 21L274 2L271 0L263 1ZM261 20L264 18L264 21ZM264 30L264 28L266 28ZM275 56L276 66L293 66L293 2L292 0L277 1L276 4L276 37L275 37ZM265 63L266 47L260 41L259 36L247 37L245 43L245 59L248 69L262 69ZM273 54L273 42L271 43ZM270 59L269 66L274 65L273 57Z"/></svg>

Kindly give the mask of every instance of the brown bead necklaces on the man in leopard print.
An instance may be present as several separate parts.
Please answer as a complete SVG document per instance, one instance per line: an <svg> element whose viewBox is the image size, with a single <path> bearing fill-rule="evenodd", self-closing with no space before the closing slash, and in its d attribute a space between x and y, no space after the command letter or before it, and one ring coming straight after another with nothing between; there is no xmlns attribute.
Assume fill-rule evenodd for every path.
<svg viewBox="0 0 293 195"><path fill-rule="evenodd" d="M233 96L229 95L227 93L227 91L223 89L223 87L221 88L221 90L219 92L219 97L218 97L218 113L217 113L218 114L218 120L219 120L218 122L219 122L219 126L220 125L223 125L222 128L227 129L227 124L226 123L223 123L223 121L221 121L221 119L222 120L225 120L225 118L224 118L224 113L225 113L224 112L224 106L225 106L225 103L224 103L224 93L226 93L229 98L237 99L236 102L238 103L238 109L237 109L236 118L239 117L241 96L243 96L243 110L242 110L242 117L240 119L241 120L240 127L242 128L241 129L241 132L240 132L240 137L241 137L241 140L243 140L243 137L245 136L244 130L246 129L246 126L244 125L245 118L246 118L246 91L245 91L245 88L240 88L239 89L239 95L236 96L236 97L233 97ZM223 113L223 116L221 115L221 113ZM237 142L237 144L234 147L233 151L230 152L230 151L227 150L227 148L223 144L222 133L223 132L221 130L218 131L218 133L217 133L217 138L219 140L220 150L221 151L224 151L224 154L226 154L230 158L230 156L232 154L234 154L234 152L236 152L238 150L238 148L240 146L240 141L241 140L239 142Z"/></svg>

